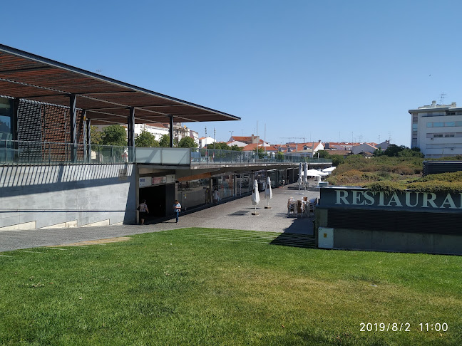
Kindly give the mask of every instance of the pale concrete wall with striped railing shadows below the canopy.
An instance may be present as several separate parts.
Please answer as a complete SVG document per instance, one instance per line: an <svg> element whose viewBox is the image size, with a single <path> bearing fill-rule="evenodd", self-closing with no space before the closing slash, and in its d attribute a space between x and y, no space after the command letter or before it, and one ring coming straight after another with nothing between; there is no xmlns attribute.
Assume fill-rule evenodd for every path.
<svg viewBox="0 0 462 346"><path fill-rule="evenodd" d="M136 222L133 164L0 167L0 230Z"/></svg>

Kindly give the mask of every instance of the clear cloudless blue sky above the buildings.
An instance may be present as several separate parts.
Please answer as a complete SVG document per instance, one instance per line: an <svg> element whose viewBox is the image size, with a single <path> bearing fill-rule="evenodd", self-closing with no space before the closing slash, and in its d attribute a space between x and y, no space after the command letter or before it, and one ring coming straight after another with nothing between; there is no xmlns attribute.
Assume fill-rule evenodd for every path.
<svg viewBox="0 0 462 346"><path fill-rule="evenodd" d="M7 1L0 42L241 117L199 136L409 146L462 107L462 1ZM258 124L258 125L257 125ZM292 138L302 142L302 139Z"/></svg>

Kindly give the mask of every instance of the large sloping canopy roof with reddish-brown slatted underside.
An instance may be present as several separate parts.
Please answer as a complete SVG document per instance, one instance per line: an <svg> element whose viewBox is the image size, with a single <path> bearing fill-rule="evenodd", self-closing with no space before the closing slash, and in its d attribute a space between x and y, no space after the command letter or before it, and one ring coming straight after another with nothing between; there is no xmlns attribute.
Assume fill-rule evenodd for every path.
<svg viewBox="0 0 462 346"><path fill-rule="evenodd" d="M71 65L0 44L0 95L70 105L94 124L125 124L130 108L137 123L240 120L240 117L123 83Z"/></svg>

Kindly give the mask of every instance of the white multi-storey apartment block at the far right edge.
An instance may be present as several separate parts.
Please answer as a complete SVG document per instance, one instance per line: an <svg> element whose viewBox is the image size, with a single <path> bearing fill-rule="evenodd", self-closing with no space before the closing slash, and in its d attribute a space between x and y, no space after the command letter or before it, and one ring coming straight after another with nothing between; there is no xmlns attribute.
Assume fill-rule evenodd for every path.
<svg viewBox="0 0 462 346"><path fill-rule="evenodd" d="M425 157L462 154L462 108L451 105L424 105L411 114L411 147L420 148Z"/></svg>

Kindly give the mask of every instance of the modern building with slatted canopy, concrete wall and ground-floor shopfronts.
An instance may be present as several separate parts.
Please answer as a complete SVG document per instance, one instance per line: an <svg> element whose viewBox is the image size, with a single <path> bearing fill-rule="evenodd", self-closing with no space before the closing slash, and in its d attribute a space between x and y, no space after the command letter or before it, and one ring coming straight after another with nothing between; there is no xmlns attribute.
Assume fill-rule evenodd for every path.
<svg viewBox="0 0 462 346"><path fill-rule="evenodd" d="M296 179L291 160L173 147L175 122L233 120L0 44L0 231L135 224L143 199L150 217L169 217L175 199L190 210L213 189L223 199L249 194L256 172ZM91 126L108 124L126 126L126 146L91 145ZM135 147L137 124L169 124L170 147Z"/></svg>

